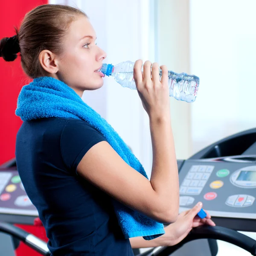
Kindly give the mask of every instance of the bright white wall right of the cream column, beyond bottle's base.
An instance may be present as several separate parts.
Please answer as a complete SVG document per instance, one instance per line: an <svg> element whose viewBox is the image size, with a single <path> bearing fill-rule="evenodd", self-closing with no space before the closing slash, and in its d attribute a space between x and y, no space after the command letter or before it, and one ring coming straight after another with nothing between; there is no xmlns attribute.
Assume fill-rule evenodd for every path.
<svg viewBox="0 0 256 256"><path fill-rule="evenodd" d="M193 152L256 127L256 1L190 1Z"/></svg>

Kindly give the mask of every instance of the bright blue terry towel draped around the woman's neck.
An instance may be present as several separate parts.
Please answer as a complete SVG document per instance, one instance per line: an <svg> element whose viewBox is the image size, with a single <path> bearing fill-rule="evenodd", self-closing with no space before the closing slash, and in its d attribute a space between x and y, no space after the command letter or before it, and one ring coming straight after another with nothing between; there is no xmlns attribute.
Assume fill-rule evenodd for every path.
<svg viewBox="0 0 256 256"><path fill-rule="evenodd" d="M67 84L52 77L39 77L22 87L17 100L17 116L23 121L44 117L67 117L84 120L96 128L129 166L147 175L140 161L99 113L90 108ZM119 226L125 238L143 236L151 240L165 233L163 224L113 200Z"/></svg>

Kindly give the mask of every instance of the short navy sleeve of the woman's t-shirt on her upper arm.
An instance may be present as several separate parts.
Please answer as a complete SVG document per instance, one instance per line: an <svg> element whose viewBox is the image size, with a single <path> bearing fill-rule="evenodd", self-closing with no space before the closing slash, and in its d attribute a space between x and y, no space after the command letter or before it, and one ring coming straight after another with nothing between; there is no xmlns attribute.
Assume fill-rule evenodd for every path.
<svg viewBox="0 0 256 256"><path fill-rule="evenodd" d="M76 168L86 152L101 141L106 141L105 137L92 125L79 119L70 119L60 140L64 164L77 174Z"/></svg>

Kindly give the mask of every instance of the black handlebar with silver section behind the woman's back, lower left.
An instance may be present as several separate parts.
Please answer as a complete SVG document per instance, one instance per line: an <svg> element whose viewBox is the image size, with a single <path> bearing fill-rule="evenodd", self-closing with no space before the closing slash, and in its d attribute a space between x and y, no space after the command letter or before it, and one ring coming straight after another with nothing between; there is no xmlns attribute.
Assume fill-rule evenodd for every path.
<svg viewBox="0 0 256 256"><path fill-rule="evenodd" d="M9 223L0 222L0 232L7 233L20 241L23 241L29 247L33 248L44 256L50 255L46 242L26 232L25 230L20 229L19 227L15 227Z"/></svg>

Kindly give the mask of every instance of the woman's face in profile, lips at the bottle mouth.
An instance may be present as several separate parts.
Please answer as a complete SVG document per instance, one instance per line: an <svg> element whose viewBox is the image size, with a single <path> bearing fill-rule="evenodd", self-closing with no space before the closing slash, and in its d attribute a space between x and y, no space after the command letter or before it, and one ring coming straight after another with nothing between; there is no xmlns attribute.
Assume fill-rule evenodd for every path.
<svg viewBox="0 0 256 256"><path fill-rule="evenodd" d="M58 60L58 78L81 97L84 90L103 85L99 72L106 53L96 45L96 33L87 17L79 16L70 24L64 38L64 55Z"/></svg>

